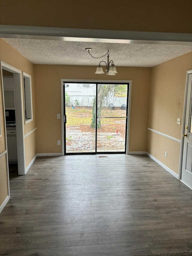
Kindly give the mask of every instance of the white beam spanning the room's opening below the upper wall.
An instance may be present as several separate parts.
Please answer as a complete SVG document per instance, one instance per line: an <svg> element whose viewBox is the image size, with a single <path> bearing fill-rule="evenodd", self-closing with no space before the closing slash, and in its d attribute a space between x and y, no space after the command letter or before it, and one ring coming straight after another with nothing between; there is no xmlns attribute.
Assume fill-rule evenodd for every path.
<svg viewBox="0 0 192 256"><path fill-rule="evenodd" d="M0 25L0 38L121 44L192 45L192 34Z"/></svg>

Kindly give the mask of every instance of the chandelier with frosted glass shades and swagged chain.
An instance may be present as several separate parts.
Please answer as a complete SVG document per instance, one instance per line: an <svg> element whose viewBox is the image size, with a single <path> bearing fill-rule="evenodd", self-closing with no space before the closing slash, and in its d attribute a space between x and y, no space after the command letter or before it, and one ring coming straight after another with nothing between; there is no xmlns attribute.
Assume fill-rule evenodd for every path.
<svg viewBox="0 0 192 256"><path fill-rule="evenodd" d="M92 48L85 48L85 50L88 51L88 53L91 55L90 51L92 50ZM116 71L116 67L113 63L113 60L109 60L109 50L107 51L106 54L104 54L101 57L94 57L92 55L91 55L91 57L93 57L94 59L100 59L106 55L107 55L107 62L105 62L104 60L102 60L101 62L105 62L107 75L115 76L115 74L117 74L117 71ZM95 74L104 74L103 68L101 67L101 62L99 63ZM111 64L111 66L110 66L110 64Z"/></svg>

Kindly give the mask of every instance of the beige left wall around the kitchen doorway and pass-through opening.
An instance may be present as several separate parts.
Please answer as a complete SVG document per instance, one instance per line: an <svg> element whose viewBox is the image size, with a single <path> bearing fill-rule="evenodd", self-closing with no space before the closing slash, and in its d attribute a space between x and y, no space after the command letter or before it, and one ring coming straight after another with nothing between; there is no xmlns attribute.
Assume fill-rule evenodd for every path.
<svg viewBox="0 0 192 256"><path fill-rule="evenodd" d="M33 115L34 120L26 125L24 125L24 133L32 131L35 127L35 92L34 92L34 67L33 64L23 57L18 51L11 47L7 42L0 38L0 60L12 65L32 76L32 99L33 99ZM3 110L3 98L2 98L2 84L0 80L0 115L1 115L1 129L2 136L0 137L0 154L6 150L5 147L5 129L4 129L4 110ZM24 106L23 106L24 111ZM29 135L30 136L30 135ZM29 141L29 143L27 143ZM26 154L26 167L27 164L34 158L36 152L36 138L33 135L33 139L30 140L28 137L25 138L25 154ZM6 156L0 158L0 205L5 200L8 195L7 191L7 166L6 166Z"/></svg>

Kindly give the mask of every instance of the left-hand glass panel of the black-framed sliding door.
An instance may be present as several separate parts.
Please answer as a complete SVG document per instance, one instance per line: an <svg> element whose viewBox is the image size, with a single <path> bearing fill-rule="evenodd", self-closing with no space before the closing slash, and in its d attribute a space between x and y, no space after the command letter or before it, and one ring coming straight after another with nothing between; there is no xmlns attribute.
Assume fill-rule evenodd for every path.
<svg viewBox="0 0 192 256"><path fill-rule="evenodd" d="M96 84L65 83L66 153L95 152Z"/></svg>

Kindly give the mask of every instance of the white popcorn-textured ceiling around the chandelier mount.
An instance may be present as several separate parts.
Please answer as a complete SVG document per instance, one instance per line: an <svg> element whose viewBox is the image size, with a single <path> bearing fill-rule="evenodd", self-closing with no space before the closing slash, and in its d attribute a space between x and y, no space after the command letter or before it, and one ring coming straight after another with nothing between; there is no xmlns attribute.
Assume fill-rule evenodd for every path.
<svg viewBox="0 0 192 256"><path fill-rule="evenodd" d="M72 42L36 39L4 38L17 51L34 64L90 65L97 66L107 56L93 59L86 47L93 48L91 54L99 57L110 51L116 66L153 67L167 60L192 51L192 46L165 44L117 44L95 42Z"/></svg>

